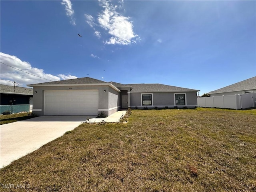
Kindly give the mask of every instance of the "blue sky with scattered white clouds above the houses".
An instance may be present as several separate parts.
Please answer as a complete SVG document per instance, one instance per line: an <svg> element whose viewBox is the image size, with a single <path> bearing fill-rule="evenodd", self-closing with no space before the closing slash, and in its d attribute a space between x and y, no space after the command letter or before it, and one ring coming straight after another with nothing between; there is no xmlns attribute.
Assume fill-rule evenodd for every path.
<svg viewBox="0 0 256 192"><path fill-rule="evenodd" d="M256 1L0 1L0 6L1 84L89 76L192 88L202 95L256 76Z"/></svg>

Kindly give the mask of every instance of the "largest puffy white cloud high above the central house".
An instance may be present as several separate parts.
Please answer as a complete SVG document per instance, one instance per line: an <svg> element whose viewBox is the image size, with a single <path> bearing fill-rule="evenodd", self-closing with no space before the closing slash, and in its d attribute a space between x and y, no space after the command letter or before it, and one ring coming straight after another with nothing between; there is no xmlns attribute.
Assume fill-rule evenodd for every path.
<svg viewBox="0 0 256 192"><path fill-rule="evenodd" d="M107 1L102 1L100 5L104 8L104 11L99 14L98 22L111 35L105 43L121 45L136 43L139 37L133 32L130 18L120 15L116 11L117 6L113 6Z"/></svg>

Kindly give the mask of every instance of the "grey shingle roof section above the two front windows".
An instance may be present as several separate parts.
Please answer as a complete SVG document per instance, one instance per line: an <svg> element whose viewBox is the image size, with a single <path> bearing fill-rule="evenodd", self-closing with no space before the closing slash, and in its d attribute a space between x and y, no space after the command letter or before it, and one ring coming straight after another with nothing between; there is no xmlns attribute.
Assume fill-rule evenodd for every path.
<svg viewBox="0 0 256 192"><path fill-rule="evenodd" d="M127 84L132 87L131 92L194 92L199 90L175 87L164 84Z"/></svg>

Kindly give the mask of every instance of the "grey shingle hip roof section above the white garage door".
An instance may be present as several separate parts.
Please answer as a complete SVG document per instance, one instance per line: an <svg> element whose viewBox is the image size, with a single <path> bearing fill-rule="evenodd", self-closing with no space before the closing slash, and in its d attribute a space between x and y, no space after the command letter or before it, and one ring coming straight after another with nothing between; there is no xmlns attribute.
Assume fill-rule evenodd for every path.
<svg viewBox="0 0 256 192"><path fill-rule="evenodd" d="M83 77L83 78L76 78L76 79L67 79L67 80L60 80L60 81L51 81L46 83L38 83L38 84L30 84L27 86L34 86L34 85L61 85L61 84L97 84L97 83L106 83L108 82L101 81L98 79L90 78L90 77Z"/></svg>

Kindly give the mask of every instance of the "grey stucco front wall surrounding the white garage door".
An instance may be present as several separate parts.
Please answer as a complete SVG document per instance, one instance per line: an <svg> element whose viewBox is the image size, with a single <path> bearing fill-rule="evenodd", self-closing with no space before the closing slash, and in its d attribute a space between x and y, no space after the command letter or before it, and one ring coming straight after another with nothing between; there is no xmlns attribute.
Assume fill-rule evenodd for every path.
<svg viewBox="0 0 256 192"><path fill-rule="evenodd" d="M106 86L105 85L101 85L101 86L35 86L33 88L33 91L34 91L33 113L36 114L37 116L44 115L44 91L45 90L98 90L99 91L99 109L108 109L108 88L109 88L108 85Z"/></svg>

